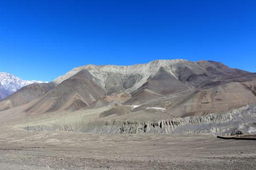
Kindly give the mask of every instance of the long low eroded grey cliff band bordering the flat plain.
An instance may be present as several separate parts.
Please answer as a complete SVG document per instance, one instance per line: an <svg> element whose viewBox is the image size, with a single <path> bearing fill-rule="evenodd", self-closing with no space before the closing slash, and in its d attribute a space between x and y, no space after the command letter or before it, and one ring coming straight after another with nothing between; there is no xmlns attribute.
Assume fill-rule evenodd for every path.
<svg viewBox="0 0 256 170"><path fill-rule="evenodd" d="M79 131L95 134L189 134L211 133L215 135L234 135L256 133L256 106L244 106L227 113L207 114L171 118L156 122L136 122L131 120L95 120L81 123L76 119L69 124L22 124L18 127L32 131Z"/></svg>

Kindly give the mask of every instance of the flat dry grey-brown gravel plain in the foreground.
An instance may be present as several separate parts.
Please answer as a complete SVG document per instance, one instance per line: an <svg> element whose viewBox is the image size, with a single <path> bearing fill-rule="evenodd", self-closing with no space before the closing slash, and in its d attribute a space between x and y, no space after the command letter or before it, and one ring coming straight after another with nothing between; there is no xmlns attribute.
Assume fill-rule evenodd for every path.
<svg viewBox="0 0 256 170"><path fill-rule="evenodd" d="M0 169L254 169L255 140L0 127Z"/></svg>

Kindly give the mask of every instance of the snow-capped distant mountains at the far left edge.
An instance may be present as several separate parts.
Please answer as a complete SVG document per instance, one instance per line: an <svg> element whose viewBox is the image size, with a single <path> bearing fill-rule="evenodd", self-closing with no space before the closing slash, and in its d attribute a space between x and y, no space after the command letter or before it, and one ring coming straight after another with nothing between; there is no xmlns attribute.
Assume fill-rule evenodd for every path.
<svg viewBox="0 0 256 170"><path fill-rule="evenodd" d="M0 72L0 100L6 98L8 95L14 93L20 88L33 83L47 83L42 81L27 81L15 77L6 72Z"/></svg>

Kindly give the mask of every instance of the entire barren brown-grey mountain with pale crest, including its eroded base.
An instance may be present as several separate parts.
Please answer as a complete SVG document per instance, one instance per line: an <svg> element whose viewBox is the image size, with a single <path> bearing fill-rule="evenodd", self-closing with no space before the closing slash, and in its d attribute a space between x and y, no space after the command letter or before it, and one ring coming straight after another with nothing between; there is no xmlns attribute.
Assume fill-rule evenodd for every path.
<svg viewBox="0 0 256 170"><path fill-rule="evenodd" d="M255 104L256 74L219 62L90 64L51 83L26 86L2 100L0 118L5 118L0 123L28 130L99 134L188 133L188 129L191 133L256 133L256 125L248 123L255 122ZM253 115L246 110L229 113L245 106Z"/></svg>

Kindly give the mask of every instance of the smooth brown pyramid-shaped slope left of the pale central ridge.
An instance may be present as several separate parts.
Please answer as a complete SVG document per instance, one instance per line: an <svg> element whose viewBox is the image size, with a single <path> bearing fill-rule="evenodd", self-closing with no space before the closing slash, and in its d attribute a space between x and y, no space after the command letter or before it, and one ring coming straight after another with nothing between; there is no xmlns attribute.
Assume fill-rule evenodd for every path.
<svg viewBox="0 0 256 170"><path fill-rule="evenodd" d="M30 103L31 106L26 111L36 114L57 110L79 110L104 98L105 93L87 70L81 70Z"/></svg>

